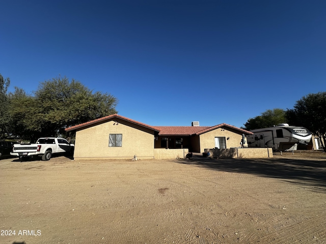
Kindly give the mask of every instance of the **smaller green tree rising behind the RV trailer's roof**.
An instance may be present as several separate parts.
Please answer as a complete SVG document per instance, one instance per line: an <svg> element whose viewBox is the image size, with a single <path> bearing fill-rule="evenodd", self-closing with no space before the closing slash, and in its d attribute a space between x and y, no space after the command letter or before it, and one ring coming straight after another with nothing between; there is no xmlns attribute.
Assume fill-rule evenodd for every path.
<svg viewBox="0 0 326 244"><path fill-rule="evenodd" d="M285 111L281 108L274 108L273 110L268 109L261 113L261 115L248 119L246 124L244 124L244 129L251 131L286 123L284 112Z"/></svg>

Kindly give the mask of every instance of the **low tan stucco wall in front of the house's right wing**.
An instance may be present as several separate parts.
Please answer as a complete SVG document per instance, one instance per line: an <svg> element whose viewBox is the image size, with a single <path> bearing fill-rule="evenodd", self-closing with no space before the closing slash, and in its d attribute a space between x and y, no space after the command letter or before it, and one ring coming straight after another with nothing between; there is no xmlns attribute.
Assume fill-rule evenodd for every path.
<svg viewBox="0 0 326 244"><path fill-rule="evenodd" d="M273 158L272 148L229 148L229 149L205 149L205 154L209 153L209 158L239 158L239 159L259 159Z"/></svg>

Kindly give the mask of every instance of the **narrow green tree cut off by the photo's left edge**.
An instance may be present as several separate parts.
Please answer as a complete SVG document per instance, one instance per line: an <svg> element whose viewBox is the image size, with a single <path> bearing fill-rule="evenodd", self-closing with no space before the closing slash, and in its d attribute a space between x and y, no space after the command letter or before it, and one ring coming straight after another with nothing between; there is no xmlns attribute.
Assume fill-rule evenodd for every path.
<svg viewBox="0 0 326 244"><path fill-rule="evenodd" d="M9 99L7 90L10 85L10 79L0 74L0 139L8 136L8 129L10 125L9 116Z"/></svg>

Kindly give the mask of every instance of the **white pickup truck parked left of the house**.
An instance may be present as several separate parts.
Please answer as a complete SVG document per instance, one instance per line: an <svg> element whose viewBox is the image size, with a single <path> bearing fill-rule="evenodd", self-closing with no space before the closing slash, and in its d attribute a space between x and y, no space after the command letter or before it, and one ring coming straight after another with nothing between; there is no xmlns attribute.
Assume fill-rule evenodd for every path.
<svg viewBox="0 0 326 244"><path fill-rule="evenodd" d="M42 160L50 160L52 154L73 153L74 148L75 145L66 139L42 137L35 144L15 144L10 155L17 156L19 159L40 156Z"/></svg>

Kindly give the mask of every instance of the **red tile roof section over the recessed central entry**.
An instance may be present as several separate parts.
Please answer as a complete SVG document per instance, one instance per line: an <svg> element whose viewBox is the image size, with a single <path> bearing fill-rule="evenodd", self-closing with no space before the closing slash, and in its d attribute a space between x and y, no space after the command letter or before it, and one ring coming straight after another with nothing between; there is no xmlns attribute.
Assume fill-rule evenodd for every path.
<svg viewBox="0 0 326 244"><path fill-rule="evenodd" d="M194 135L202 130L210 128L209 126L155 126L159 129L158 135L160 136L172 136L172 135L182 135L189 136Z"/></svg>

